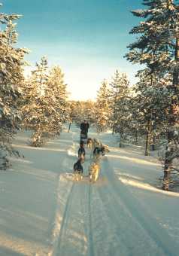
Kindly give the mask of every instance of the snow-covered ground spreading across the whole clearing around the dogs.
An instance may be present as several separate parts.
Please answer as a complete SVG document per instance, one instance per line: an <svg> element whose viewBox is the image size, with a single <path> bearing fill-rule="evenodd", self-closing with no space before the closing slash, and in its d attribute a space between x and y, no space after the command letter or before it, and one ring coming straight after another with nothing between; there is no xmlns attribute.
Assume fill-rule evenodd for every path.
<svg viewBox="0 0 179 256"><path fill-rule="evenodd" d="M25 157L0 172L0 255L178 255L179 194L160 190L157 160L92 131L111 152L96 184L74 182L79 134L73 126L43 148L18 134L14 146Z"/></svg>

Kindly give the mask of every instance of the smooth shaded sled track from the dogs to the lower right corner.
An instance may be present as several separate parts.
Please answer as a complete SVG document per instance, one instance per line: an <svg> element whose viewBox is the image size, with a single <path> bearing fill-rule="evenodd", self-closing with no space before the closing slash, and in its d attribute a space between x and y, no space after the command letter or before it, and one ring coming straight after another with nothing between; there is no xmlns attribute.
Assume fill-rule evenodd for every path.
<svg viewBox="0 0 179 256"><path fill-rule="evenodd" d="M105 159L105 167L110 171L108 174L108 180L111 183L111 186L108 186L108 190L113 195L114 201L119 204L119 200L122 201L126 209L131 213L132 217L141 225L141 227L146 231L148 236L156 242L159 248L162 249L163 253L166 255L177 256L177 246L174 243L173 239L168 235L166 230L161 227L157 221L147 213L144 207L138 202L138 200L133 197L132 193L129 191L128 187L124 185L121 181L115 177L114 169L110 166L108 159ZM108 172L107 172L108 173ZM115 188L116 187L116 188ZM104 194L99 191L100 197L105 200ZM115 213L115 206L113 207ZM106 208L109 212L108 207ZM117 214L114 214L116 221Z"/></svg>

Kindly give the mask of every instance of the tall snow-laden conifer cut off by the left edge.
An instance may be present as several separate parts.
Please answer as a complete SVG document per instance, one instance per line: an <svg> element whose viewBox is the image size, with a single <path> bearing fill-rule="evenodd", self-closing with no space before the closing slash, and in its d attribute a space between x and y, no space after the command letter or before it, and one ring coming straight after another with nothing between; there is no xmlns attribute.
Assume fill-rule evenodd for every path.
<svg viewBox="0 0 179 256"><path fill-rule="evenodd" d="M23 66L27 50L15 47L17 14L0 14L0 169L7 169L8 154L18 155L11 146L14 134L20 127Z"/></svg>

